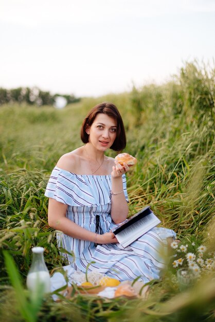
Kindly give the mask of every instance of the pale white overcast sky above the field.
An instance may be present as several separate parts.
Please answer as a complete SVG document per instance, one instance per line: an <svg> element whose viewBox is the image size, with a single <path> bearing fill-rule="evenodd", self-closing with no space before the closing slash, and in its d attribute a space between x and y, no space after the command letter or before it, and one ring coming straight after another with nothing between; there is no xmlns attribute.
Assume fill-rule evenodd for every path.
<svg viewBox="0 0 215 322"><path fill-rule="evenodd" d="M76 97L214 66L215 0L0 0L0 87Z"/></svg>

